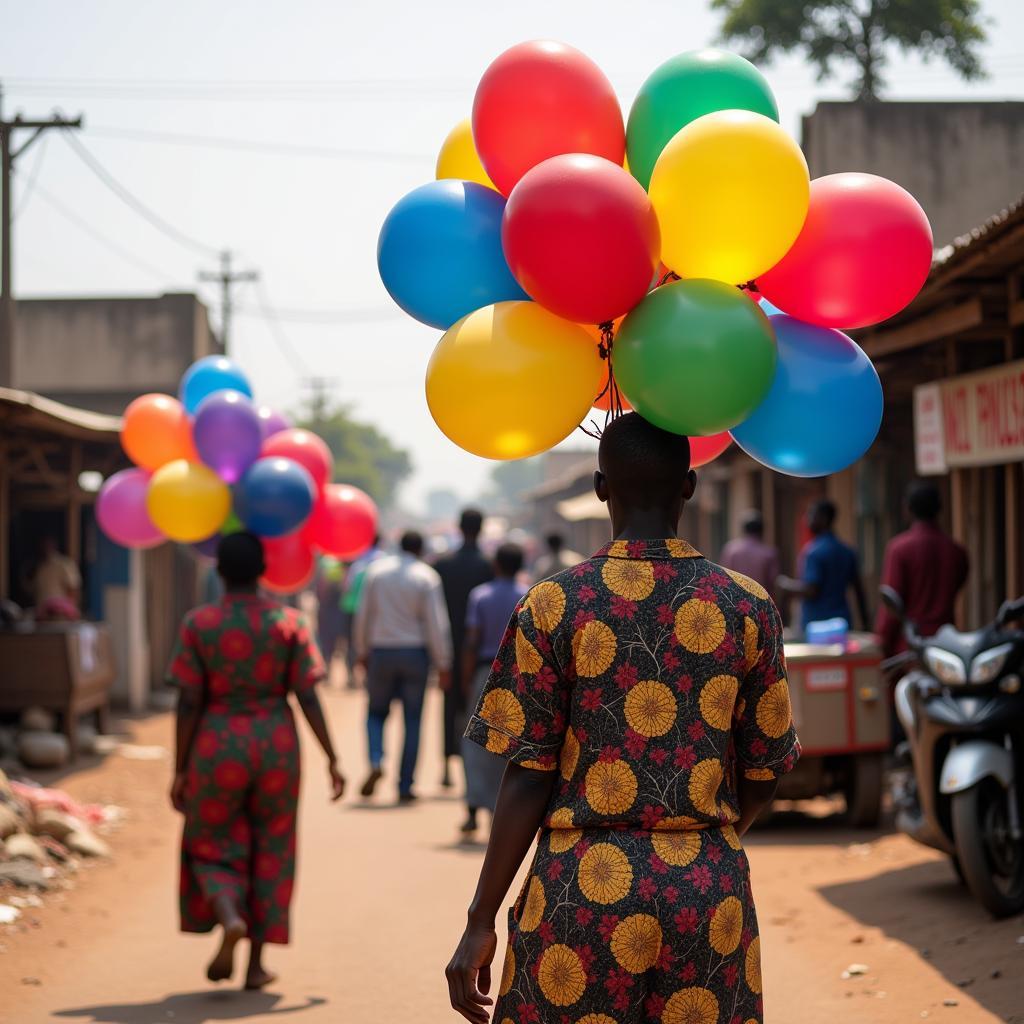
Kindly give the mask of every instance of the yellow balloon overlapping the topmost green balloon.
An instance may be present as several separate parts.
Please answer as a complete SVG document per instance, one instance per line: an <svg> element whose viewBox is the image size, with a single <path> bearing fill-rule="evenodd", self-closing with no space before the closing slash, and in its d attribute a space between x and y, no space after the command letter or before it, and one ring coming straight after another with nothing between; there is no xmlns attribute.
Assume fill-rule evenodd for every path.
<svg viewBox="0 0 1024 1024"><path fill-rule="evenodd" d="M739 285L771 269L796 242L810 176L800 146L770 118L719 111L676 133L649 191L665 263L680 278Z"/></svg>

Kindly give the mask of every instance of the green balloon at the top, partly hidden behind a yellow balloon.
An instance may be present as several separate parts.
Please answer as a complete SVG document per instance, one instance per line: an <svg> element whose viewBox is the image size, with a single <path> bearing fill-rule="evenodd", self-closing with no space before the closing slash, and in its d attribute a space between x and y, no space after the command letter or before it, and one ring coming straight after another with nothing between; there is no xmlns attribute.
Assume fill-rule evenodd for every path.
<svg viewBox="0 0 1024 1024"><path fill-rule="evenodd" d="M689 50L666 60L640 87L626 126L633 176L646 188L676 132L715 111L754 111L778 121L768 80L737 53Z"/></svg>

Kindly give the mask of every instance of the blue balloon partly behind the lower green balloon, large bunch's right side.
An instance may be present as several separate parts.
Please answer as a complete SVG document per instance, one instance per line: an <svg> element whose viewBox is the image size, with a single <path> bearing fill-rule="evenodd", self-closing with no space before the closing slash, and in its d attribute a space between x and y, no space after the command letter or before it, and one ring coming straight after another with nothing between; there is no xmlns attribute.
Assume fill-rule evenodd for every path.
<svg viewBox="0 0 1024 1024"><path fill-rule="evenodd" d="M853 339L784 314L765 400L731 433L750 456L790 476L825 476L856 462L882 425L882 383Z"/></svg>

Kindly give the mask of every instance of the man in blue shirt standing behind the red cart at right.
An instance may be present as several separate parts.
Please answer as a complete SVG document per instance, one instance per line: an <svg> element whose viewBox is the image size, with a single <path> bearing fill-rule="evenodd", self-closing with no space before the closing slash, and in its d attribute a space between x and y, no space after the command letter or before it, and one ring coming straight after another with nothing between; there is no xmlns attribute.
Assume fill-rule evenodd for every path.
<svg viewBox="0 0 1024 1024"><path fill-rule="evenodd" d="M803 598L800 625L826 618L845 618L853 626L847 594L852 588L857 601L860 628L868 630L867 600L860 580L857 553L833 532L836 506L827 500L815 502L808 512L811 540L800 553L800 579L780 577L780 590Z"/></svg>

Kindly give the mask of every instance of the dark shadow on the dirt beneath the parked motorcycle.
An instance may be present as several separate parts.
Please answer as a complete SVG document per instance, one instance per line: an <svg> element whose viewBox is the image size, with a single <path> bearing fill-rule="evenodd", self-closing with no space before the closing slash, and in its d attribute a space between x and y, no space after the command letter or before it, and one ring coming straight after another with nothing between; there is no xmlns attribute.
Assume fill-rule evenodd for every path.
<svg viewBox="0 0 1024 1024"><path fill-rule="evenodd" d="M993 921L944 860L883 871L819 890L829 903L881 929L999 1017L1024 1024L1024 921Z"/></svg>

